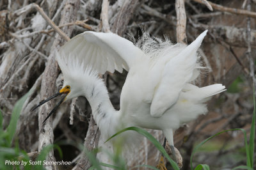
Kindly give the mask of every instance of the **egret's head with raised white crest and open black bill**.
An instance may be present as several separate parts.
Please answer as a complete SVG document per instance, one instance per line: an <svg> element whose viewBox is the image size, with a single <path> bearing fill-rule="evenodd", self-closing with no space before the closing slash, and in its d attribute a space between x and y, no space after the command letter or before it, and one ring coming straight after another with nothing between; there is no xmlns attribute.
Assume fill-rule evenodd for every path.
<svg viewBox="0 0 256 170"><path fill-rule="evenodd" d="M61 103L65 102L66 100L70 100L81 95L88 97L89 95L86 95L84 91L92 91L93 82L99 79L96 72L93 72L90 67L84 67L83 63L79 62L79 60L74 60L74 56L61 58L61 55L65 54L60 54L58 52L56 54L56 59L61 68L61 72L63 73L63 86L55 95L42 100L42 102L32 109L32 111L34 111L40 105L45 104L53 98L61 96L62 98L60 102L58 102L58 104L52 109L47 118L49 118L49 116L51 116L51 114L58 109ZM47 118L45 118L44 122L47 120Z"/></svg>

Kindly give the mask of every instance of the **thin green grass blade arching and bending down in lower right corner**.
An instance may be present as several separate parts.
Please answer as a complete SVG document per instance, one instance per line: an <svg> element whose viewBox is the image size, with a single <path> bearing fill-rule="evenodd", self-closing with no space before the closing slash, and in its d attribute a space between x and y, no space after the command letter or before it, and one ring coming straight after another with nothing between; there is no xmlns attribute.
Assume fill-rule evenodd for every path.
<svg viewBox="0 0 256 170"><path fill-rule="evenodd" d="M205 139L204 141L202 141L202 143L198 144L195 146L195 148L193 149L192 151L192 154L191 154L191 157L190 157L190 168L193 169L193 166L192 166L192 159L193 159L193 155L195 154L195 152L205 143L207 143L207 141L209 141L210 139L212 139L213 137L216 137L220 134L223 134L225 132L228 132L228 131L235 131L235 130L241 130L244 134L244 144L245 144L245 150L246 150L246 158L248 160L248 158L250 158L250 153L249 153L249 147L248 147L248 144L247 144L247 137L246 137L246 131L243 129L243 128L232 128L232 129L228 129L228 130L223 130L217 134L214 134L212 135L211 137L208 137L207 139ZM250 163L250 162L249 162ZM248 165L247 165L248 166ZM251 167L251 165L249 164L248 167Z"/></svg>

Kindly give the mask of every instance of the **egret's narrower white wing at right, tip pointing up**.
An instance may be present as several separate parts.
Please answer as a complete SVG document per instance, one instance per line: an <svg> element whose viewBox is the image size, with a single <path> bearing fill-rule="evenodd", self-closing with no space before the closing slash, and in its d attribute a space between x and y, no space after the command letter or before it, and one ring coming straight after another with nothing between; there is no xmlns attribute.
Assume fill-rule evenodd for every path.
<svg viewBox="0 0 256 170"><path fill-rule="evenodd" d="M150 114L159 118L172 107L179 99L180 91L185 84L191 81L196 68L196 51L200 47L207 30L204 31L194 42L188 45L177 56L166 63L159 86L154 93Z"/></svg>

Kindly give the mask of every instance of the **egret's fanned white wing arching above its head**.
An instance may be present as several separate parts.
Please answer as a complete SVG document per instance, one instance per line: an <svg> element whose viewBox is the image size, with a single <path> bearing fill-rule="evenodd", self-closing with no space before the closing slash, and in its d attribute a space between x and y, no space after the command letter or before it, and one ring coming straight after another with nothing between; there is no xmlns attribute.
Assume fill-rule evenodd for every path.
<svg viewBox="0 0 256 170"><path fill-rule="evenodd" d="M61 47L61 58L74 58L84 67L90 66L98 73L111 73L129 68L136 58L145 54L132 42L114 33L86 31L69 40ZM58 58L58 63L61 62ZM68 61L69 59L63 59Z"/></svg>

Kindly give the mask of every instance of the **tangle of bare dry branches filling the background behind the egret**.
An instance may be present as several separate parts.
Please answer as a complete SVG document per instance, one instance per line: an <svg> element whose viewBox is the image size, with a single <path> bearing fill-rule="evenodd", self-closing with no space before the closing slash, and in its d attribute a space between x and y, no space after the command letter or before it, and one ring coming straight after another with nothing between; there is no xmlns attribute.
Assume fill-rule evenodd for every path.
<svg viewBox="0 0 256 170"><path fill-rule="evenodd" d="M256 58L255 6L254 0L1 0L0 109L4 126L8 125L17 100L33 89L17 124L16 138L20 148L30 153L65 139L84 143L92 150L97 147L100 134L85 98L63 104L52 121L44 126L45 113L51 111L56 101L30 112L40 100L61 87L61 73L54 60L54 50L68 37L88 30L112 31L131 40L131 36L138 38L143 29L152 36L164 38L167 35L173 42L190 43L209 29L201 49L205 54L202 62L210 69L202 73L196 84L203 86L218 82L230 88L209 102L209 114L175 132L175 145L183 157L183 169L189 169L189 157L195 143L228 128L250 128L252 82L255 81L253 61ZM48 20L44 19L44 13ZM61 31L54 23L64 35L60 35ZM104 75L116 109L125 75ZM161 132L150 132L163 142ZM74 169L90 167L88 159L74 146L63 145L61 148L62 159L73 161ZM246 161L241 148L243 135L230 132L212 141L204 153L194 158L194 162L209 164L212 169L235 167ZM51 151L47 160L56 159L60 160L58 154ZM140 154L129 160L129 164L156 166L158 160L156 148L145 139Z"/></svg>

